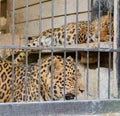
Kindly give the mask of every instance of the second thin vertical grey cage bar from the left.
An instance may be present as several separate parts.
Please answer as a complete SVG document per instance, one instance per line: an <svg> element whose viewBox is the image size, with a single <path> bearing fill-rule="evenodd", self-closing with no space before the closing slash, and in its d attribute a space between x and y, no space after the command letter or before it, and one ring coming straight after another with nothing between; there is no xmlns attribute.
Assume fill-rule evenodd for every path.
<svg viewBox="0 0 120 116"><path fill-rule="evenodd" d="M26 38L25 38L26 42L25 45L28 45L28 0L26 0ZM26 57L25 57L25 101L27 101L27 73L28 73L28 51L25 51L26 53Z"/></svg>

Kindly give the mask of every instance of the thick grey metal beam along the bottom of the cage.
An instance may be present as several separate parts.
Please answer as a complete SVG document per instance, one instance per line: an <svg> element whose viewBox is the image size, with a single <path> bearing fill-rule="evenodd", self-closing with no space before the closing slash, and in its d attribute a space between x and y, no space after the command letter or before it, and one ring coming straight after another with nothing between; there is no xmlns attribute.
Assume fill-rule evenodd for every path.
<svg viewBox="0 0 120 116"><path fill-rule="evenodd" d="M40 116L120 113L120 100L71 100L0 104L0 116L4 114L16 116L18 113L20 116L33 116L35 112Z"/></svg>

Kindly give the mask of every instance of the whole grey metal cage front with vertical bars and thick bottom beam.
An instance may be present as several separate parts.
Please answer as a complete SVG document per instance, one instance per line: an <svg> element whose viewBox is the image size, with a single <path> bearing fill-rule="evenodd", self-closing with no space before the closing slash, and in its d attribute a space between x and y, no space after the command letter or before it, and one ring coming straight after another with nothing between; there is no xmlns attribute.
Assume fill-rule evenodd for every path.
<svg viewBox="0 0 120 116"><path fill-rule="evenodd" d="M4 1L4 0L3 0ZM0 2L0 9L2 8L2 2ZM54 3L56 0L49 0L51 3L51 28L52 28L52 36L54 36L54 23L55 23L55 6ZM100 22L100 1L99 0L99 12L98 12L98 22ZM108 0L109 1L109 0ZM92 2L94 2L94 0L92 0ZM78 99L77 93L75 93L75 99L74 100L66 100L65 99L65 87L64 87L64 95L63 95L63 100L60 101L54 101L53 100L53 96L52 96L52 89L53 89L53 78L51 78L51 88L50 88L50 94L51 94L51 100L50 101L35 101L35 102L27 102L27 96L25 98L24 102L13 102L13 103L0 103L0 115L2 116L46 116L46 115L73 115L73 116L78 116L78 115L97 115L97 114L106 114L106 113L110 113L110 115L112 116L114 113L120 113L120 101L119 101L119 96L120 96L120 80L119 80L119 76L120 76L120 57L119 57L119 0L114 0L114 40L112 42L113 47L111 48L111 40L109 40L108 42L108 48L103 49L101 48L101 42L100 42L100 30L98 31L98 43L97 43L97 48L91 48L91 44L89 42L89 39L86 41L86 47L82 48L79 47L79 43L77 41L78 39L78 31L76 31L76 45L74 45L73 47L68 47L67 43L66 43L66 27L67 27L67 0L64 0L64 45L62 47L60 46L54 46L54 41L51 42L51 47L42 47L41 45L39 47L29 47L28 43L28 37L29 37L29 1L26 0L26 5L25 5L25 14L26 14L26 21L25 21L25 27L26 27L26 32L25 32L25 46L16 46L15 45L15 0L11 1L11 6L12 6L12 12L11 12L11 33L12 33L12 43L9 46L5 46L5 45L1 45L0 49L5 49L5 48L9 48L12 49L12 69L15 68L15 64L14 64L14 50L15 49L24 49L25 50L25 67L29 67L29 50L39 50L38 52L38 57L39 59L42 58L42 52L43 51L50 51L50 56L51 59L53 59L55 51L62 51L63 52L63 59L64 59L64 67L66 66L66 58L67 58L67 54L68 52L73 52L74 51L74 57L75 57L75 63L79 64L79 52L86 52L86 70L85 71L85 92L84 92L84 97L85 98L81 98ZM90 8L90 4L91 1L88 0L87 1L88 4L88 28L87 28L87 33L89 33L90 31L90 20L91 20L91 8ZM59 5L59 4L58 4ZM81 4L79 0L76 0L76 24L78 24L79 22L79 8L80 8ZM47 8L46 8L47 9ZM39 35L41 35L42 33L42 0L39 1ZM2 16L2 10L0 11L0 15ZM112 16L111 16L112 18ZM111 20L111 19L110 19ZM78 25L76 26L76 30L78 30ZM98 24L98 29L100 29L100 24ZM111 26L110 26L110 33L111 33ZM52 38L53 40L53 38ZM41 40L39 41L39 43L41 43ZM93 45L93 44L92 44ZM95 92L95 97L90 99L90 95L89 95L89 79L91 78L90 75L94 75L91 74L90 72L90 54L91 52L97 54L97 77L96 77L96 92ZM100 59L101 57L105 57L104 53L108 53L108 68L107 68L107 91L105 91L105 94L107 95L107 97L102 98L101 97L101 75L106 78L106 74L104 75L101 74L101 62ZM101 56L101 54L103 54ZM40 60L39 60L40 61ZM112 62L112 65L111 65ZM41 61L39 62L39 64L41 63ZM52 60L53 63L53 60ZM78 65L76 65L76 70L77 70ZM54 72L54 67L51 67L51 77L53 77L53 72ZM39 67L39 69L41 69ZM113 70L113 74L111 74L111 70ZM66 79L66 70L64 68L64 86L65 86L65 79ZM106 70L105 70L106 71ZM104 71L104 72L105 72ZM28 68L26 68L25 70L25 93L27 95L27 72L28 72ZM14 70L12 70L12 90L14 90ZM94 73L92 71L92 73ZM76 71L76 75L77 75L77 71ZM117 84L117 92L116 92L116 96L115 97L111 97L111 89L114 88L110 83L111 80L110 78L114 78L113 80L117 80L116 84ZM77 79L77 76L76 76ZM92 78L93 79L93 78ZM106 80L105 80L106 81ZM76 84L78 82L76 81ZM113 82L114 83L114 82ZM40 83L38 83L40 86ZM105 83L106 84L106 83ZM77 90L77 86L76 90ZM104 89L104 86L102 87L102 89ZM106 89L105 89L106 90ZM38 90L39 94L40 94L40 89ZM113 90L114 91L114 90ZM104 94L104 93L103 93ZM39 96L40 97L40 96ZM14 101L14 91L12 91L12 101ZM119 115L119 114L118 114Z"/></svg>

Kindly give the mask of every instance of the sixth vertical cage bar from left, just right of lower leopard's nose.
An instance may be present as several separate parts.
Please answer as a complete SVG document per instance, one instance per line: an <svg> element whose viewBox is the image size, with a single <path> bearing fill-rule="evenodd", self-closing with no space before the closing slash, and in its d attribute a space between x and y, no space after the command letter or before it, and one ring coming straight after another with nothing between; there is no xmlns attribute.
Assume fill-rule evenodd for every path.
<svg viewBox="0 0 120 116"><path fill-rule="evenodd" d="M78 0L76 0L76 48L78 47ZM76 93L75 93L75 99L77 100L77 91L78 91L78 51L76 50L75 51L75 62L76 62L76 67L75 67L75 70L76 70L76 82L75 82L75 90L76 90Z"/></svg>

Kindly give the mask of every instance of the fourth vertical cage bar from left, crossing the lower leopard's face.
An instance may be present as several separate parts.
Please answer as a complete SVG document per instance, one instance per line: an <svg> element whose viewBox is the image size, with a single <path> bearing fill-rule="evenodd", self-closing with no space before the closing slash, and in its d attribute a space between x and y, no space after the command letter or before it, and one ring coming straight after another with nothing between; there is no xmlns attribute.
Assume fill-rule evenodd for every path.
<svg viewBox="0 0 120 116"><path fill-rule="evenodd" d="M51 7L52 7L52 19L51 19L51 27L52 27L52 36L51 36L51 47L52 47L52 50L51 50L51 90L50 90L50 95L51 95L51 101L53 100L53 78L54 78L54 75L53 75L53 72L54 72L54 65L53 65L53 48L54 48L54 0L52 0L51 2Z"/></svg>

